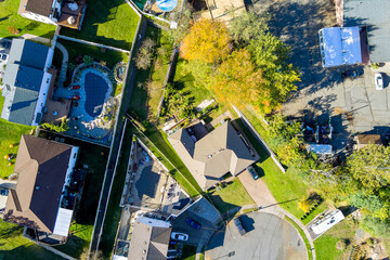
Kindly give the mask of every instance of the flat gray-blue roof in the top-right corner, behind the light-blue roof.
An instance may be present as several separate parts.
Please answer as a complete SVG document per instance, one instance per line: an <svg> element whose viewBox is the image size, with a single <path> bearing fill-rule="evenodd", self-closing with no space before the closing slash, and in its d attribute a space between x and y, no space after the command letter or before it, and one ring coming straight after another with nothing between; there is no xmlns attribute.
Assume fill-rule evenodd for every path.
<svg viewBox="0 0 390 260"><path fill-rule="evenodd" d="M367 26L373 63L390 62L389 14L389 0L343 0L343 26Z"/></svg>

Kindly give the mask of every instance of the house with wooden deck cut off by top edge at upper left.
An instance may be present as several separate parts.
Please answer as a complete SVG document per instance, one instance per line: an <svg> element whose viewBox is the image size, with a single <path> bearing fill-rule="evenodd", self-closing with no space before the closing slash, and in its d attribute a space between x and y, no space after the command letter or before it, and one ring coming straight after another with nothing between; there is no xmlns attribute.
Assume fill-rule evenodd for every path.
<svg viewBox="0 0 390 260"><path fill-rule="evenodd" d="M25 18L80 29L84 0L22 0L17 11Z"/></svg>

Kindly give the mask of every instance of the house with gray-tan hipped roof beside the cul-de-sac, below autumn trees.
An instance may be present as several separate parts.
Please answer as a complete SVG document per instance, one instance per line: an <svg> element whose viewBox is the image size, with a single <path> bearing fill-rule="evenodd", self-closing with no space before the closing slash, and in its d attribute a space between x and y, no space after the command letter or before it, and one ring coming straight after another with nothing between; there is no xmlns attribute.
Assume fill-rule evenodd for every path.
<svg viewBox="0 0 390 260"><path fill-rule="evenodd" d="M168 140L203 190L213 186L229 172L240 173L258 159L230 121L199 140L185 128L169 135Z"/></svg>

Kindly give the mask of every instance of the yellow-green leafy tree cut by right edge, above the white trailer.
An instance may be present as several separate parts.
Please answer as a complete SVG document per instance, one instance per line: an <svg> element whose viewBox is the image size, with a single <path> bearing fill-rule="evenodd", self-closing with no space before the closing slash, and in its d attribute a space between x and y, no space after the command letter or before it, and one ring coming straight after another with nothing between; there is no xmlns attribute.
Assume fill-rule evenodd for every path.
<svg viewBox="0 0 390 260"><path fill-rule="evenodd" d="M368 145L355 151L347 162L349 171L365 193L372 194L390 181L390 146Z"/></svg>

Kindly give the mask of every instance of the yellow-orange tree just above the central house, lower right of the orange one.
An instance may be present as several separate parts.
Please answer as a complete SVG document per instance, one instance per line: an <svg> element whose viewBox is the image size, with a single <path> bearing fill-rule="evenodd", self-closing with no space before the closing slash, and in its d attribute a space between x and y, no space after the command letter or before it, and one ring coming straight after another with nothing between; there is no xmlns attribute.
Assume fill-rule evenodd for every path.
<svg viewBox="0 0 390 260"><path fill-rule="evenodd" d="M222 102L253 104L268 99L269 91L264 84L262 72L256 68L250 53L238 50L219 66L211 89Z"/></svg>

